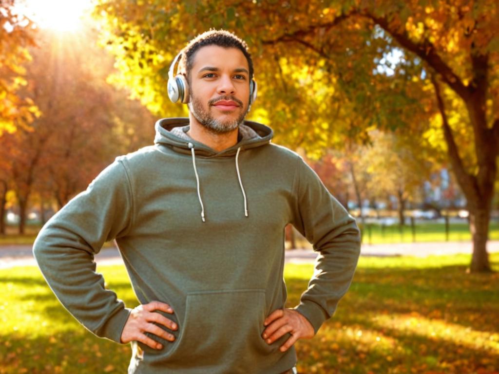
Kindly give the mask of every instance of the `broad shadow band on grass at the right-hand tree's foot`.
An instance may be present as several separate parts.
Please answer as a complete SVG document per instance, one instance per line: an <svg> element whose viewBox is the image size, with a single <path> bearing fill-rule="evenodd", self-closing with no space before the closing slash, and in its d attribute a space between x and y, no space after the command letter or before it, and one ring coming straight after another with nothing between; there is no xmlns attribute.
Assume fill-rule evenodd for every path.
<svg viewBox="0 0 499 374"><path fill-rule="evenodd" d="M373 315L418 313L476 331L499 332L499 274L466 274L464 266L431 269L359 268L336 317L369 324ZM308 281L288 277L289 307Z"/></svg>

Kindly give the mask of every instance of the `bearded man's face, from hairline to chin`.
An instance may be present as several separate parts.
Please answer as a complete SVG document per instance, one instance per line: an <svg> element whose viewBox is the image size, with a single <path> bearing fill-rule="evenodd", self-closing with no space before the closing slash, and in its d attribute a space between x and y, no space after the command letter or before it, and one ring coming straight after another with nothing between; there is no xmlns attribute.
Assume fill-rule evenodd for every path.
<svg viewBox="0 0 499 374"><path fill-rule="evenodd" d="M189 110L205 128L227 133L243 123L248 112L248 60L238 48L201 47L191 70Z"/></svg>

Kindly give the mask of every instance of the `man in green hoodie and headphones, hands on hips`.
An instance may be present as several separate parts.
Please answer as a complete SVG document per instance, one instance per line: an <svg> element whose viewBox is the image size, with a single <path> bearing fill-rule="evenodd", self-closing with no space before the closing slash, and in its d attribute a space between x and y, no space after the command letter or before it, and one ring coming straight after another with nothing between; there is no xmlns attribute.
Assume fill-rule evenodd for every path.
<svg viewBox="0 0 499 374"><path fill-rule="evenodd" d="M182 73L174 76L181 55ZM121 156L43 227L34 254L67 310L97 336L131 343L129 373L295 373L347 291L355 220L272 130L244 118L256 98L246 43L193 39L170 68L189 118L156 123L155 145ZM284 307L284 227L319 252L298 306ZM94 254L111 239L141 305L104 288Z"/></svg>

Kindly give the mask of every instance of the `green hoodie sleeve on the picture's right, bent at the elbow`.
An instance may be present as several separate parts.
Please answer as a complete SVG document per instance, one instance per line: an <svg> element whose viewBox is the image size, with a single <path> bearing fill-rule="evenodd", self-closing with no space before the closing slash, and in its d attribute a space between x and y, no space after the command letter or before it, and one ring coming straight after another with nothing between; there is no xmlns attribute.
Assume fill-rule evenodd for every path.
<svg viewBox="0 0 499 374"><path fill-rule="evenodd" d="M295 173L291 223L319 252L308 289L295 309L317 333L350 287L360 254L360 231L355 219L301 157Z"/></svg>

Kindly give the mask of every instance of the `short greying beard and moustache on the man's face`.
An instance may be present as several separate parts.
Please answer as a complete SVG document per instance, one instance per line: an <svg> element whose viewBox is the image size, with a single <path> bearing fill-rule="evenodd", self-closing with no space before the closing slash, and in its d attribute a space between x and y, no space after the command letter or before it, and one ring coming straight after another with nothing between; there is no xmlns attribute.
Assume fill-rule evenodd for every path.
<svg viewBox="0 0 499 374"><path fill-rule="evenodd" d="M213 117L211 112L211 107L214 103L220 100L233 100L239 104L240 108L243 108L243 103L241 100L236 99L235 97L218 97L216 99L212 99L208 102L208 110L203 108L203 104L201 100L197 99L192 92L189 93L189 109L193 116L198 120L198 122L203 125L206 129L210 130L213 133L224 134L231 132L237 129L243 122L248 113L248 109L246 111L242 111L238 118L233 120L222 121L215 117ZM224 113L225 111L222 111ZM229 113L229 111L227 111Z"/></svg>

